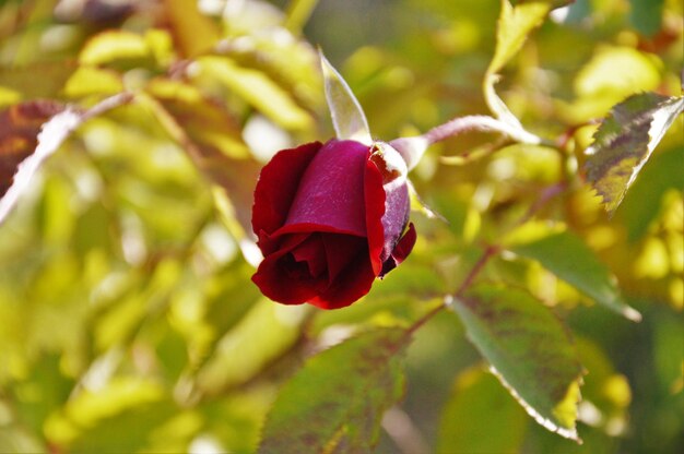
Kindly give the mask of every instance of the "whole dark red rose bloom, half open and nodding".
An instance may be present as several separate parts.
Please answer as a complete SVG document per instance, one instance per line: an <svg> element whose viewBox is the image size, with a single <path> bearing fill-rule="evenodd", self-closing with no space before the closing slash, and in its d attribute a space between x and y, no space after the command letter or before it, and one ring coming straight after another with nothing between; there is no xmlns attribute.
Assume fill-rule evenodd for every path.
<svg viewBox="0 0 684 454"><path fill-rule="evenodd" d="M389 145L283 150L255 190L251 225L264 259L251 279L274 301L343 308L409 255L408 220L406 167Z"/></svg>

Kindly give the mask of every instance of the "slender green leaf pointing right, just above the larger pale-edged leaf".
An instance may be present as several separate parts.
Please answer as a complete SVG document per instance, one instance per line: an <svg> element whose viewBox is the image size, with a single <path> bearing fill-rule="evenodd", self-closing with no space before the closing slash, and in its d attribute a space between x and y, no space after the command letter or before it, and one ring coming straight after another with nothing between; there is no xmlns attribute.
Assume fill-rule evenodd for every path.
<svg viewBox="0 0 684 454"><path fill-rule="evenodd" d="M639 312L624 302L608 266L575 235L568 231L552 232L529 242L516 243L511 250L539 261L546 270L599 304L629 320L641 320Z"/></svg>

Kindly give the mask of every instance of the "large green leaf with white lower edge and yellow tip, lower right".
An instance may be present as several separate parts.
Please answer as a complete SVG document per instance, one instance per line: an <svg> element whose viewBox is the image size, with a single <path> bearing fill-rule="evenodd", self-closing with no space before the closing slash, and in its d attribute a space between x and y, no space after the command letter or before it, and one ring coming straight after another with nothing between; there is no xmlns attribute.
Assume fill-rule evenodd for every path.
<svg viewBox="0 0 684 454"><path fill-rule="evenodd" d="M526 290L479 285L453 303L469 339L536 422L579 441L582 368L563 324Z"/></svg>

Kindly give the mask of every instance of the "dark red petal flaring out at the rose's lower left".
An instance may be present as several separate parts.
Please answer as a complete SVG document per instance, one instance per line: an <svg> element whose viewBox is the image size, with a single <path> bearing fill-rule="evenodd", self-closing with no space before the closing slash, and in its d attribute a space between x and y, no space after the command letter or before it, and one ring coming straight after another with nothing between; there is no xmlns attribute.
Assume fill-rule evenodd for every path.
<svg viewBox="0 0 684 454"><path fill-rule="evenodd" d="M300 267L306 267L306 264L297 264L292 255L293 249L307 238L308 235L288 236L283 239L279 251L261 261L251 280L264 296L284 304L302 304L318 295L320 279L300 273ZM293 278L294 274L299 274L298 278Z"/></svg>

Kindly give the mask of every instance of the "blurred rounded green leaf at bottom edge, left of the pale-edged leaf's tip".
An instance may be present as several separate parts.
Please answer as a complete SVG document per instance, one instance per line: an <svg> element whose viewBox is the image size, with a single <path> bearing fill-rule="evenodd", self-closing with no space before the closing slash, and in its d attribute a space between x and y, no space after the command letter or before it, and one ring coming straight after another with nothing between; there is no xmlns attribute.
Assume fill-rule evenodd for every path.
<svg viewBox="0 0 684 454"><path fill-rule="evenodd" d="M471 368L453 384L441 415L436 452L520 452L526 425L524 411L496 379L480 367Z"/></svg>

